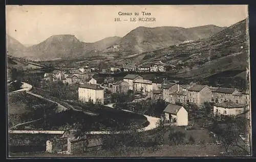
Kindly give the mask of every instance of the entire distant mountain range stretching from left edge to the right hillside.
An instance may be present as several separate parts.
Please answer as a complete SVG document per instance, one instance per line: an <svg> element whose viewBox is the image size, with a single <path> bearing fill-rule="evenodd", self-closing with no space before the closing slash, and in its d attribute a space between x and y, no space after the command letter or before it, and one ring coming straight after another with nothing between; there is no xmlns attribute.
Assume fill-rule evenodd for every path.
<svg viewBox="0 0 256 162"><path fill-rule="evenodd" d="M123 57L136 53L164 48L184 41L208 38L224 28L205 25L196 28L139 27L124 37L108 37L94 43L78 40L74 35L53 35L39 44L25 47L7 42L10 49L16 49L16 57L31 60L82 59L88 57ZM21 47L22 46L22 47ZM22 51L22 52L20 52Z"/></svg>

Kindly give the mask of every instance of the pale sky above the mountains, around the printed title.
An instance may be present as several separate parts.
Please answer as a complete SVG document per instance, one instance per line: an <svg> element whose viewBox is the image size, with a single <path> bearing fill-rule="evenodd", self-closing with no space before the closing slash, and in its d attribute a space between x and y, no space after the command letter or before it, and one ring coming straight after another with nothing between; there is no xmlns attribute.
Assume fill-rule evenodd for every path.
<svg viewBox="0 0 256 162"><path fill-rule="evenodd" d="M52 35L71 34L95 42L123 37L139 26L191 28L214 24L230 26L248 16L247 5L129 5L129 6L6 6L6 32L22 44L37 44ZM132 13L133 15L118 15ZM142 12L151 15L142 15ZM134 15L139 13L139 15ZM139 18L156 21L138 21ZM115 21L119 18L121 21ZM137 21L130 19L136 18ZM125 21L127 20L127 21Z"/></svg>

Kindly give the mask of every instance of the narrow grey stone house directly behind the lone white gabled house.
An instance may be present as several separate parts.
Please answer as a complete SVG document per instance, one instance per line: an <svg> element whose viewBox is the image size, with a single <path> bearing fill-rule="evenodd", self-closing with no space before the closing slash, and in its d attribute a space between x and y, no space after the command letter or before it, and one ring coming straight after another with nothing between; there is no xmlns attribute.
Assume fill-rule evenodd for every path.
<svg viewBox="0 0 256 162"><path fill-rule="evenodd" d="M174 103L172 100L176 100L176 91L179 91L179 85L175 83L168 83L162 86L163 100L169 103Z"/></svg>

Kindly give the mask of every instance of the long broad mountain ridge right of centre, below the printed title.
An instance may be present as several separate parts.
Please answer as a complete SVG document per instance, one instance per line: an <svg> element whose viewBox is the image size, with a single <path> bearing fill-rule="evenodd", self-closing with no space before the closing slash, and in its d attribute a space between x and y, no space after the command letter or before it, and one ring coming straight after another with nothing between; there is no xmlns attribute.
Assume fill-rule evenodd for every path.
<svg viewBox="0 0 256 162"><path fill-rule="evenodd" d="M198 26L196 28L180 28L162 26L146 28L140 26L121 38L115 48L109 47L105 51L120 51L124 55L142 53L170 45L180 44L188 40L208 38L225 29L216 25Z"/></svg>

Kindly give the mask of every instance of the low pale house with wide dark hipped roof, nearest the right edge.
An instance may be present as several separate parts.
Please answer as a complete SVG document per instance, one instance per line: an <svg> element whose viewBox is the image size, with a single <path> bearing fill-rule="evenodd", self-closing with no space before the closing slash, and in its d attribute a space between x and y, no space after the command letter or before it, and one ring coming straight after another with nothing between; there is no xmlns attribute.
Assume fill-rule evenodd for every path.
<svg viewBox="0 0 256 162"><path fill-rule="evenodd" d="M231 100L215 103L214 105L214 114L237 116L244 113L245 110L246 104L236 103Z"/></svg>

